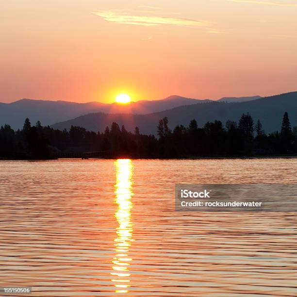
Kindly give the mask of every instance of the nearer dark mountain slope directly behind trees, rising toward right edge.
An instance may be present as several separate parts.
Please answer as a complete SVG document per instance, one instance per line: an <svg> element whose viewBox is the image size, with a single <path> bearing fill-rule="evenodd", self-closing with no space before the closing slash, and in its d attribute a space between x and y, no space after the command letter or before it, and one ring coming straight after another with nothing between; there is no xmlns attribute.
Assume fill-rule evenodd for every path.
<svg viewBox="0 0 297 297"><path fill-rule="evenodd" d="M207 121L214 120L221 120L223 124L228 119L238 122L243 113L249 113L255 122L258 119L261 120L265 132L274 132L280 130L282 116L286 111L289 113L292 127L297 126L297 92L240 103L210 101L203 104L183 105L148 115L92 113L54 124L52 127L62 130L74 125L103 132L106 126L117 122L129 131L133 131L135 126L138 126L141 133L156 134L158 121L165 116L168 117L169 126L173 129L176 125L187 126L193 118L197 120L198 126L202 127Z"/></svg>

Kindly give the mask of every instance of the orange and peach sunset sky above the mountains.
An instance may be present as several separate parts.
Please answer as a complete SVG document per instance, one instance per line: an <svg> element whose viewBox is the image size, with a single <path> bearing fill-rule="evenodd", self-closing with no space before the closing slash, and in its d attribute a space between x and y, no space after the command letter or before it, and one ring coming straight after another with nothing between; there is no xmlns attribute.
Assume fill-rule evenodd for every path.
<svg viewBox="0 0 297 297"><path fill-rule="evenodd" d="M0 102L297 90L297 0L1 0Z"/></svg>

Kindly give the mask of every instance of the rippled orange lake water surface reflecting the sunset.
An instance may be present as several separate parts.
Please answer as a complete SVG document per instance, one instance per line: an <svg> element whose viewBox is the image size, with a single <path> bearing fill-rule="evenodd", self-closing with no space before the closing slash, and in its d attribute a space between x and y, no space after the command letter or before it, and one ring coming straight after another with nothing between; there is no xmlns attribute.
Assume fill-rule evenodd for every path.
<svg viewBox="0 0 297 297"><path fill-rule="evenodd" d="M176 183L297 183L297 160L0 161L0 286L297 296L296 213L176 212Z"/></svg>

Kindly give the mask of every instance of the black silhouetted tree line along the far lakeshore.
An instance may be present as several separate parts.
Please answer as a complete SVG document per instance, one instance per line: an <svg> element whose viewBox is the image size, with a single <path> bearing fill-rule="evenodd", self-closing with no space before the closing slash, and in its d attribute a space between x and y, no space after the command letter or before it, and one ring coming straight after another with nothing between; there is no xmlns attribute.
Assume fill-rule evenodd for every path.
<svg viewBox="0 0 297 297"><path fill-rule="evenodd" d="M109 158L240 157L297 153L297 127L292 129L284 113L280 132L266 134L260 120L243 114L238 122L207 122L199 128L195 119L187 127L169 129L168 118L160 119L157 135L128 132L112 123L104 132L71 126L69 131L35 125L26 118L23 129L0 128L0 158L51 159L57 152L101 151Z"/></svg>

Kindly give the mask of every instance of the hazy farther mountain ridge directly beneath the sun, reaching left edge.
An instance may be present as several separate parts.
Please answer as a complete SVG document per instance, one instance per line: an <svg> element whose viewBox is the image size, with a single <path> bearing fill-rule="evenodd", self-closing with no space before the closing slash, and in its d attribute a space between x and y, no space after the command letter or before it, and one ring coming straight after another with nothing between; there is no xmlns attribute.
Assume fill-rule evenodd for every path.
<svg viewBox="0 0 297 297"><path fill-rule="evenodd" d="M96 112L142 115L161 112L178 106L210 101L209 99L192 99L177 95L161 100L140 100L127 105L20 99L12 103L0 102L0 126L9 124L13 129L21 129L26 117L30 118L32 124L40 120L42 125L52 125L80 115Z"/></svg>

